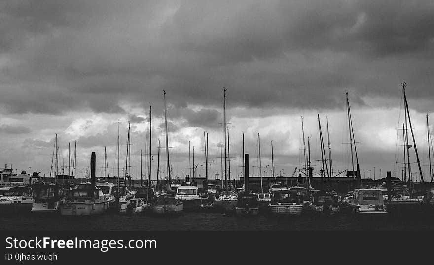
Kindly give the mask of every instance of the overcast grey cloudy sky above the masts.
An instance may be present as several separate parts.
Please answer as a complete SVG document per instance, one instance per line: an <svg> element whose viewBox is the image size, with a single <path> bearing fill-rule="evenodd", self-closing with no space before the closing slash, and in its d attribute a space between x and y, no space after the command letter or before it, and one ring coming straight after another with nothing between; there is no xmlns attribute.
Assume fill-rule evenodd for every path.
<svg viewBox="0 0 434 265"><path fill-rule="evenodd" d="M68 164L68 143L77 141L77 176L89 166L91 151L97 152L97 174L104 174L104 146L109 173L117 174L118 121L121 167L130 121L131 171L139 178L152 104L154 178L158 139L165 147L166 90L174 175L189 173L188 141L195 164L203 164L204 131L210 174L220 174L226 87L232 176L242 171L242 133L251 165L258 165L260 133L262 165L271 165L273 141L276 172L291 175L304 163L301 116L318 173L317 114L326 144L328 117L336 174L351 170L344 144L347 91L362 177L369 170L373 177L374 167L376 178L380 168L383 177L389 170L401 176L397 127L405 81L429 178L425 115L434 124L432 0L10 0L1 1L0 19L2 166L48 175L58 133L60 164L63 157ZM410 155L415 161L413 151ZM161 157L165 168L163 149ZM203 175L204 166L198 168ZM412 168L417 172L416 164ZM257 167L250 172L257 175ZM269 167L264 174L271 174Z"/></svg>

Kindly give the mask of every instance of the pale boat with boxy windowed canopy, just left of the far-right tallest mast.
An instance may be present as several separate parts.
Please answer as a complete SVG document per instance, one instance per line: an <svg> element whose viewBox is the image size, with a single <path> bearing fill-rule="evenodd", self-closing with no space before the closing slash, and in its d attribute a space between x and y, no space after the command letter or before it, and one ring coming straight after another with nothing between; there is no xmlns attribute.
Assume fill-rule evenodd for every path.
<svg viewBox="0 0 434 265"><path fill-rule="evenodd" d="M348 207L354 216L386 216L387 214L383 194L378 189L355 189L348 201Z"/></svg>

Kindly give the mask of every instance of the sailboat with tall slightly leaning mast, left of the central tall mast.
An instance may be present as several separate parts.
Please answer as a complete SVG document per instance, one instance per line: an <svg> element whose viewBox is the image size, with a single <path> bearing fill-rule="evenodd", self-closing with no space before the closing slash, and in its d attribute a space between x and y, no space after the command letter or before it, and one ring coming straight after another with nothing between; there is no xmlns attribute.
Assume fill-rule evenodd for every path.
<svg viewBox="0 0 434 265"><path fill-rule="evenodd" d="M169 160L169 138L167 135L167 107L166 107L166 91L164 91L164 122L166 130L166 154L167 154L167 172L169 179L166 184L166 193L160 195L152 206L152 212L155 214L171 215L181 214L184 211L184 204L180 199L175 197L175 191L171 189L172 173L170 170Z"/></svg>

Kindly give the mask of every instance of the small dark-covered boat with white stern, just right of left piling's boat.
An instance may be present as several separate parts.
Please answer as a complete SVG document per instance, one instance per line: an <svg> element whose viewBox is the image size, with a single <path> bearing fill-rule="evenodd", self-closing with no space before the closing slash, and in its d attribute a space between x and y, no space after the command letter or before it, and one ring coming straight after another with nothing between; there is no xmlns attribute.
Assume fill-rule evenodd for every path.
<svg viewBox="0 0 434 265"><path fill-rule="evenodd" d="M148 192L149 191L149 192ZM152 203L155 202L156 195L152 188L142 186L137 188L136 194L133 199L128 203L124 203L120 207L121 214L143 214L146 210L150 210Z"/></svg>

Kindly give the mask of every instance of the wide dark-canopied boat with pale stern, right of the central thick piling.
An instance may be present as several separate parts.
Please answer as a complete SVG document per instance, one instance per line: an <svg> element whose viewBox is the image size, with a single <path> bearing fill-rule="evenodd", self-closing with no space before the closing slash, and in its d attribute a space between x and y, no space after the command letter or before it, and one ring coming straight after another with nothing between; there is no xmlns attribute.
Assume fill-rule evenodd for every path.
<svg viewBox="0 0 434 265"><path fill-rule="evenodd" d="M273 192L268 208L272 215L299 216L303 211L303 204L297 191L280 190Z"/></svg>

